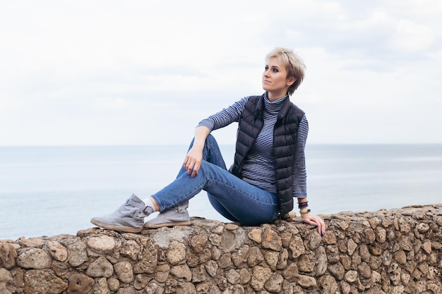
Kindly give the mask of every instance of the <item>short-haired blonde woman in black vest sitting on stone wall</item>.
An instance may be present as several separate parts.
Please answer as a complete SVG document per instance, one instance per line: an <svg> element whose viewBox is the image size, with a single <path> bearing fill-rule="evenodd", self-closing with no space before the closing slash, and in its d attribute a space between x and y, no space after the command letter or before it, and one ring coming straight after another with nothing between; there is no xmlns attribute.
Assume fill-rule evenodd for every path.
<svg viewBox="0 0 442 294"><path fill-rule="evenodd" d="M321 217L306 200L304 147L309 125L304 111L289 101L304 78L305 65L292 50L276 48L265 56L261 96L245 97L201 121L176 180L141 200L131 195L112 214L93 224L138 233L145 228L190 224L189 199L201 190L226 219L244 225L284 217L297 198L305 223L325 233ZM212 130L238 122L234 164L227 171ZM145 216L160 214L144 223Z"/></svg>

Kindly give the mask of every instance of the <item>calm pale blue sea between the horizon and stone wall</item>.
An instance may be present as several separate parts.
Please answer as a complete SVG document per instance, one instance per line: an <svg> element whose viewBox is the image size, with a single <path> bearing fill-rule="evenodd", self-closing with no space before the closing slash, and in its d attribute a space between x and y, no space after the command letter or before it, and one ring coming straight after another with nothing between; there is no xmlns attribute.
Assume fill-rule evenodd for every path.
<svg viewBox="0 0 442 294"><path fill-rule="evenodd" d="M229 166L234 147L221 148ZM186 149L0 147L0 240L91 228L131 193L144 198L171 182ZM314 214L442 203L442 145L308 145L306 165ZM227 221L205 192L189 213Z"/></svg>

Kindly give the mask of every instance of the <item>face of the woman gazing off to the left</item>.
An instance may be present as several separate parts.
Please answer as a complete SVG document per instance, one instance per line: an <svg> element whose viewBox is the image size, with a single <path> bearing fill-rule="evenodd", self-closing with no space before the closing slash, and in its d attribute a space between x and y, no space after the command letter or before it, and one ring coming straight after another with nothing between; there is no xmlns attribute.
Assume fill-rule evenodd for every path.
<svg viewBox="0 0 442 294"><path fill-rule="evenodd" d="M284 97L295 78L287 78L287 69L277 57L268 59L263 73L263 89L268 92L268 99L275 100Z"/></svg>

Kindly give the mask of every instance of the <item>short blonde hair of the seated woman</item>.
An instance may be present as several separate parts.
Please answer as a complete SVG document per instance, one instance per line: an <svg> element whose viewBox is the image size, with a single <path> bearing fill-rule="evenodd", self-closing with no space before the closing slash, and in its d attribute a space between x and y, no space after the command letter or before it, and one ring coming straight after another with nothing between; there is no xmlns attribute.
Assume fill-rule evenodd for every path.
<svg viewBox="0 0 442 294"><path fill-rule="evenodd" d="M304 80L304 74L306 71L306 65L301 57L294 53L293 50L287 48L277 47L270 51L265 56L265 62L268 62L272 57L276 57L278 61L285 64L287 70L287 78L295 78L296 81L289 87L289 95L293 94L294 90L297 90Z"/></svg>

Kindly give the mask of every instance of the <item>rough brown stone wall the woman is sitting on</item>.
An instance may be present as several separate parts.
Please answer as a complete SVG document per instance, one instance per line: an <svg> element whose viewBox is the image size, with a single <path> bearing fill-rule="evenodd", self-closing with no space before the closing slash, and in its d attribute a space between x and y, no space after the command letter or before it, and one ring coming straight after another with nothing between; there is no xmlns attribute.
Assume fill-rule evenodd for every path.
<svg viewBox="0 0 442 294"><path fill-rule="evenodd" d="M0 241L0 293L442 293L442 204Z"/></svg>

